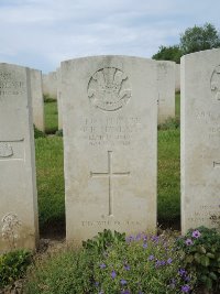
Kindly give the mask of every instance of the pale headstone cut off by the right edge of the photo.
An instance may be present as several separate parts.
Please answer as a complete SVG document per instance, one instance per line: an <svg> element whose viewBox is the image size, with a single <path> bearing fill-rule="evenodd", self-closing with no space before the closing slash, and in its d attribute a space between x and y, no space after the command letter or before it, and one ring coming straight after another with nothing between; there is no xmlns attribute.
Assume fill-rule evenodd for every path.
<svg viewBox="0 0 220 294"><path fill-rule="evenodd" d="M182 58L182 229L220 228L220 50Z"/></svg>

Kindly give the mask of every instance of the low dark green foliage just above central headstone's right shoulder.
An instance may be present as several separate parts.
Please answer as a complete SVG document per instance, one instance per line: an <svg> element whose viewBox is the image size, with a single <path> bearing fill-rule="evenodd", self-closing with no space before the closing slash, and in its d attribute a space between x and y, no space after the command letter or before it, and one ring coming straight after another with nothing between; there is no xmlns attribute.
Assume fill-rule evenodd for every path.
<svg viewBox="0 0 220 294"><path fill-rule="evenodd" d="M178 45L174 46L161 46L158 52L152 56L153 59L156 61L172 61L175 63L180 63L180 57L183 52L180 51Z"/></svg>

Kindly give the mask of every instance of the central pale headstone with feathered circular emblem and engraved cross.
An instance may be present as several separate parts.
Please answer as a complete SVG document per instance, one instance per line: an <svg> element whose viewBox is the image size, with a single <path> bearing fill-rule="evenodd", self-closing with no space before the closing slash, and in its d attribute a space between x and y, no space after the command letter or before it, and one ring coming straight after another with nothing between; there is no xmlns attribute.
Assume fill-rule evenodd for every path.
<svg viewBox="0 0 220 294"><path fill-rule="evenodd" d="M156 227L156 62L62 63L67 240Z"/></svg>

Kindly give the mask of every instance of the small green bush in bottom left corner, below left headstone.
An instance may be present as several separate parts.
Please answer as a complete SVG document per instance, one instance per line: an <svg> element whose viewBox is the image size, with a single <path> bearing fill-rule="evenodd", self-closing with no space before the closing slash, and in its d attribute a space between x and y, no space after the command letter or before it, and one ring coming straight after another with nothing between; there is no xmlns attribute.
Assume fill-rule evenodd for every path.
<svg viewBox="0 0 220 294"><path fill-rule="evenodd" d="M31 252L25 250L11 251L0 255L0 287L23 277L31 260Z"/></svg>

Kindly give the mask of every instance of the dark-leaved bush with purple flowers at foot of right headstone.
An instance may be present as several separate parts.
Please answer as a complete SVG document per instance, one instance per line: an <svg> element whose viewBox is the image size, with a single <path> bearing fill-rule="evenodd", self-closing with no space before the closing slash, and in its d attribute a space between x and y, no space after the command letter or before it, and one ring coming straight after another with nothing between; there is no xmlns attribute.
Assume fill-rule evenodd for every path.
<svg viewBox="0 0 220 294"><path fill-rule="evenodd" d="M199 227L190 229L178 239L185 254L185 266L197 272L199 286L211 293L220 292L220 235L216 229Z"/></svg>

